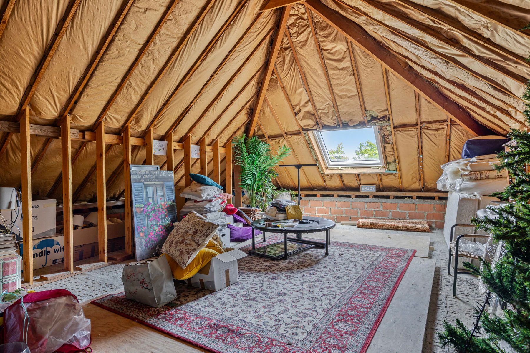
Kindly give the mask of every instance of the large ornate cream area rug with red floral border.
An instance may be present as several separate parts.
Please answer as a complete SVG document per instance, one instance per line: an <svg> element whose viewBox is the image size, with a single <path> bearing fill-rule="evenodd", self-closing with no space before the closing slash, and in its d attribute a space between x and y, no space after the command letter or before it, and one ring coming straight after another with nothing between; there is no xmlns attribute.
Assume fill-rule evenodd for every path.
<svg viewBox="0 0 530 353"><path fill-rule="evenodd" d="M329 256L244 258L237 283L217 292L179 284L160 309L123 293L92 303L213 352L364 353L414 252L332 242Z"/></svg>

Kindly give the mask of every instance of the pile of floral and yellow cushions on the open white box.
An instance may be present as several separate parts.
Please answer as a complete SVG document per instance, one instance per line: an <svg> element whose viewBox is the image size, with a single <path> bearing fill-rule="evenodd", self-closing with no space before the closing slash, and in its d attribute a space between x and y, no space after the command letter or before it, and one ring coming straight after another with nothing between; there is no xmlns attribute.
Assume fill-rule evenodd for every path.
<svg viewBox="0 0 530 353"><path fill-rule="evenodd" d="M162 246L173 278L188 279L210 260L226 252L219 237L218 224L191 211L167 236Z"/></svg>

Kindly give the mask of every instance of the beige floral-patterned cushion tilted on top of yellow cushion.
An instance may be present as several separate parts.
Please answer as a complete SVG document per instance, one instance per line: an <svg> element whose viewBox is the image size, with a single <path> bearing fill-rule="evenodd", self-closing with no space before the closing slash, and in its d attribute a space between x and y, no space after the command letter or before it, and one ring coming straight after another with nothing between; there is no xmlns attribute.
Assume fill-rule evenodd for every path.
<svg viewBox="0 0 530 353"><path fill-rule="evenodd" d="M162 251L185 268L208 245L217 227L217 224L191 211L167 236Z"/></svg>

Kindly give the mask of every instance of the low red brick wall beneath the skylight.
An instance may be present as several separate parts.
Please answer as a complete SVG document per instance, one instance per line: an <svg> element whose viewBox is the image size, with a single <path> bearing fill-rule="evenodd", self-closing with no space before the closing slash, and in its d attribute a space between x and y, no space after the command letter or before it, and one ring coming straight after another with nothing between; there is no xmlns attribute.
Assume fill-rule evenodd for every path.
<svg viewBox="0 0 530 353"><path fill-rule="evenodd" d="M397 198L303 197L305 215L335 222L358 219L426 220L430 227L444 228L445 200L401 200Z"/></svg>

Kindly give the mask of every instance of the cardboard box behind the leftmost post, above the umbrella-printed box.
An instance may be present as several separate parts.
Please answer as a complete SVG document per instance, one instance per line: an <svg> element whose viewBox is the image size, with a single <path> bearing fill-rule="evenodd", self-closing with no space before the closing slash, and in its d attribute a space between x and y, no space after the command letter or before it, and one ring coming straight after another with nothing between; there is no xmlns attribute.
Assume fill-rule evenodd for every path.
<svg viewBox="0 0 530 353"><path fill-rule="evenodd" d="M11 219L11 214L15 216L15 211L3 210L2 216L6 220ZM19 227L13 227L12 231L17 236L17 240L22 240L22 209L15 224ZM57 219L57 200L38 195L31 196L31 225L33 227L33 239L53 237L55 235L55 223Z"/></svg>

